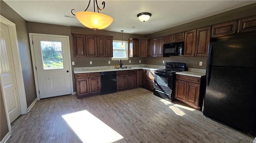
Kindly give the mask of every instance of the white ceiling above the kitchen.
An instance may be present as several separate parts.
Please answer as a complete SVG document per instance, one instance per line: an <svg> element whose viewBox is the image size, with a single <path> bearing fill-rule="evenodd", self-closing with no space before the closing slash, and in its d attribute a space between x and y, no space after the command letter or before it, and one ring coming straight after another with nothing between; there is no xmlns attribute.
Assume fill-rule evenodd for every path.
<svg viewBox="0 0 256 143"><path fill-rule="evenodd" d="M108 31L147 35L208 16L255 3L255 0L104 0L100 13L114 18ZM88 0L4 0L28 22L85 27L72 16L71 9L84 11ZM102 8L102 0L98 5ZM87 11L93 11L93 0ZM137 14L150 12L151 18L141 22ZM138 28L134 28L138 27Z"/></svg>

